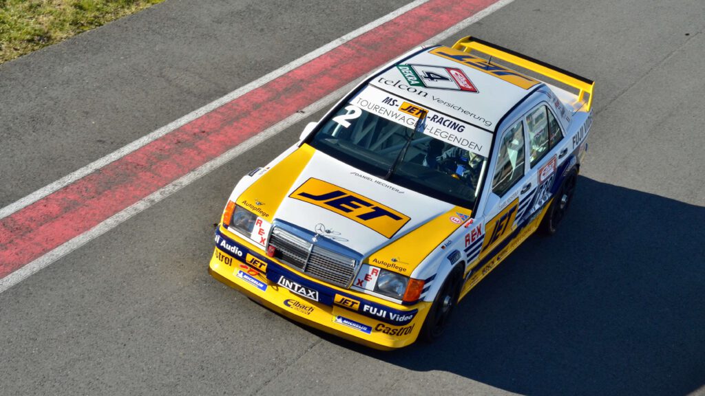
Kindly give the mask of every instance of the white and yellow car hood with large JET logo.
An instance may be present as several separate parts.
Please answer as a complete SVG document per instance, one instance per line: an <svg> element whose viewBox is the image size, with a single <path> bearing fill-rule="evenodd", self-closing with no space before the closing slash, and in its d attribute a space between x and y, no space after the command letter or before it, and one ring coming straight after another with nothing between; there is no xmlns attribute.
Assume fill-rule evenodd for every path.
<svg viewBox="0 0 705 396"><path fill-rule="evenodd" d="M400 242L398 253L393 249L376 259L410 267L470 217L467 209L394 185L307 144L267 169L237 202L269 222L319 233L370 261ZM411 246L403 252L402 245ZM406 270L400 272L412 268Z"/></svg>

